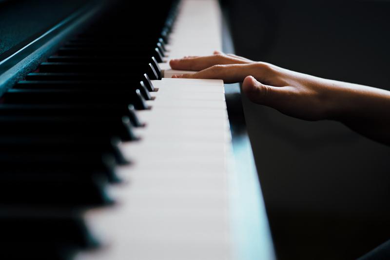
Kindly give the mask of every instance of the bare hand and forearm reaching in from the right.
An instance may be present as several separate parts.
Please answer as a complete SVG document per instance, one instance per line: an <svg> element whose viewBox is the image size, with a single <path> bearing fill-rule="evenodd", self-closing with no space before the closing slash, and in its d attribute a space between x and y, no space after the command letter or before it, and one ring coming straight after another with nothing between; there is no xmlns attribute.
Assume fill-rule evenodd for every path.
<svg viewBox="0 0 390 260"><path fill-rule="evenodd" d="M303 120L337 120L390 145L390 91L322 79L221 52L171 60L170 65L176 70L198 71L173 78L243 82L243 92L255 103Z"/></svg>

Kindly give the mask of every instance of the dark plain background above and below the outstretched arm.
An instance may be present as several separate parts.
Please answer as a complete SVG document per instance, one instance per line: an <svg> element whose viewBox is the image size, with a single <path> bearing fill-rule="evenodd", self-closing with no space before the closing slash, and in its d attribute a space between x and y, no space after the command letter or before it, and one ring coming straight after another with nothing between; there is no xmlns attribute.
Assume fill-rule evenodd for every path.
<svg viewBox="0 0 390 260"><path fill-rule="evenodd" d="M390 89L389 1L227 4L237 55ZM279 259L354 259L390 239L390 147L338 122L244 110Z"/></svg>

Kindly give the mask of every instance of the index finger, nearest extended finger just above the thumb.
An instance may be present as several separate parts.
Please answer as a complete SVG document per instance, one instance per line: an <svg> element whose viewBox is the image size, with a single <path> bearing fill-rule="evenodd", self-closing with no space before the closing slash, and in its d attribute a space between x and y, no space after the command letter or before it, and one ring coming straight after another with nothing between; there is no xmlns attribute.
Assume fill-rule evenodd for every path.
<svg viewBox="0 0 390 260"><path fill-rule="evenodd" d="M266 72L257 63L214 65L194 74L175 75L181 79L217 79L225 83L242 82L248 75L262 78Z"/></svg>

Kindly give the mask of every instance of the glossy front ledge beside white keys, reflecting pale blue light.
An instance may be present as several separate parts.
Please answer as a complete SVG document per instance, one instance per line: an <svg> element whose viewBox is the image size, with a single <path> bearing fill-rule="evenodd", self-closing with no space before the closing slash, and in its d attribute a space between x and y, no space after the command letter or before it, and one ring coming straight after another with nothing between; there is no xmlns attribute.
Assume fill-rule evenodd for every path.
<svg viewBox="0 0 390 260"><path fill-rule="evenodd" d="M222 9L222 49L234 53L227 10ZM237 198L231 201L236 259L276 259L266 208L257 175L251 141L247 132L239 83L225 84L225 99L232 133L234 187ZM243 174L245 173L245 174Z"/></svg>

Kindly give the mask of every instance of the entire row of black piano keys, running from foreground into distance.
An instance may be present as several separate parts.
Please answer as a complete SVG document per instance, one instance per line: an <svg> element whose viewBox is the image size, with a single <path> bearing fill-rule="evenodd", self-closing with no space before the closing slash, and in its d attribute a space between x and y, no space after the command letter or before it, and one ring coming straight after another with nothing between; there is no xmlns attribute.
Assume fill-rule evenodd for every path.
<svg viewBox="0 0 390 260"><path fill-rule="evenodd" d="M135 110L149 109L174 18L156 44L107 40L97 29L107 19L98 21L1 97L1 259L71 259L98 247L80 211L114 203L105 188L131 163L118 144L143 127Z"/></svg>

